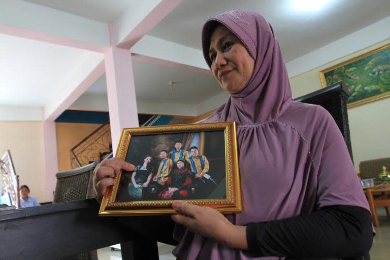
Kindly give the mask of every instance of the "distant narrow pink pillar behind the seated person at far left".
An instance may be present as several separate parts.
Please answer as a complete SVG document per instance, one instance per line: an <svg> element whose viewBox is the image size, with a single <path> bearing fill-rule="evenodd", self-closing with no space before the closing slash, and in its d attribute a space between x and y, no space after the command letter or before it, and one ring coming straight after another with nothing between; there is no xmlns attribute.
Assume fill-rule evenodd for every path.
<svg viewBox="0 0 390 260"><path fill-rule="evenodd" d="M58 172L57 159L57 138L55 133L55 122L45 120L45 108L42 107L42 134L43 134L43 161L45 171L45 199L53 201L53 191L55 189Z"/></svg>

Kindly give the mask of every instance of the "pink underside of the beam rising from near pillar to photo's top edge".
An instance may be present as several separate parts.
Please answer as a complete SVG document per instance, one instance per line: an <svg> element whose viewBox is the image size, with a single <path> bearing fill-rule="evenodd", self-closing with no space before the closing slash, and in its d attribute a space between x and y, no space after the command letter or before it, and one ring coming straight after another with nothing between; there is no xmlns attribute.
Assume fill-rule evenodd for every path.
<svg viewBox="0 0 390 260"><path fill-rule="evenodd" d="M118 47L130 49L149 30L175 9L182 0L162 0L123 40Z"/></svg>

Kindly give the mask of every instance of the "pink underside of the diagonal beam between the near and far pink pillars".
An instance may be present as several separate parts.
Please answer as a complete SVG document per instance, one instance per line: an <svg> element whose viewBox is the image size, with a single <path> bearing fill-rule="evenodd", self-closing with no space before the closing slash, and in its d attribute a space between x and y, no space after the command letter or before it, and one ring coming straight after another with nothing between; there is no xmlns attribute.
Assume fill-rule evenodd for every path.
<svg viewBox="0 0 390 260"><path fill-rule="evenodd" d="M53 113L47 118L48 121L54 121L63 111L68 109L96 80L105 73L105 63L102 60L91 73L78 85L75 90L64 100Z"/></svg>

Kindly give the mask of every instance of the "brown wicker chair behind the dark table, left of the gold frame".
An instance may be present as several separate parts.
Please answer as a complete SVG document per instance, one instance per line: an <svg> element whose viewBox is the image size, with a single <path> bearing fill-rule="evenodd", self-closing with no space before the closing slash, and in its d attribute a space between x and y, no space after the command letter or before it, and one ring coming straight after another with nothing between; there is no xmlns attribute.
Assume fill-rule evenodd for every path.
<svg viewBox="0 0 390 260"><path fill-rule="evenodd" d="M93 170L98 162L69 171L58 172L53 203L80 201L94 198ZM98 260L96 250L61 258L62 260Z"/></svg>

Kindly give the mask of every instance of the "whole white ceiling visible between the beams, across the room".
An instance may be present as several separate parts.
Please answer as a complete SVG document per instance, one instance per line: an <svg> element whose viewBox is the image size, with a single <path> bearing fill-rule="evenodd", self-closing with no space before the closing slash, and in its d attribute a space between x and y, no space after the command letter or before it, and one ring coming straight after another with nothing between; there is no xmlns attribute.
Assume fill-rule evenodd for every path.
<svg viewBox="0 0 390 260"><path fill-rule="evenodd" d="M142 3L137 0L26 2L103 23L115 21L126 8ZM319 12L296 12L289 3L289 0L183 0L148 35L200 50L200 31L207 18L229 10L249 10L263 14L271 23L287 62L390 16L388 0L331 0ZM78 68L88 60L98 62L102 55L0 34L0 106L44 106L75 77ZM133 62L137 99L165 102L179 99L187 104L200 104L205 97L221 93L211 75L136 59ZM177 82L173 91L169 81ZM104 77L92 84L87 93L105 95Z"/></svg>

